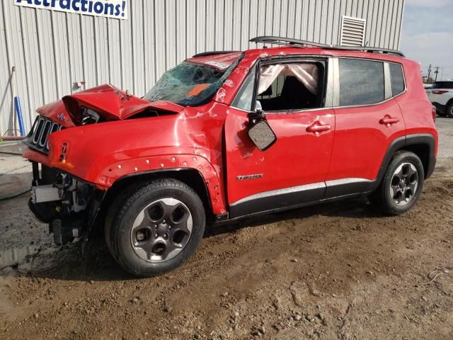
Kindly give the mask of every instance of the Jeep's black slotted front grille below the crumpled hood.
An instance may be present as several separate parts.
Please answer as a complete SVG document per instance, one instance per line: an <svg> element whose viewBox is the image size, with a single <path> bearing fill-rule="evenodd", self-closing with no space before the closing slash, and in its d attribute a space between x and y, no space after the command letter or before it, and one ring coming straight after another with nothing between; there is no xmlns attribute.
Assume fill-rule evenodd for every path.
<svg viewBox="0 0 453 340"><path fill-rule="evenodd" d="M62 129L64 129L62 125L55 123L49 118L38 116L23 142L32 149L48 154L49 142L47 142L47 136Z"/></svg>

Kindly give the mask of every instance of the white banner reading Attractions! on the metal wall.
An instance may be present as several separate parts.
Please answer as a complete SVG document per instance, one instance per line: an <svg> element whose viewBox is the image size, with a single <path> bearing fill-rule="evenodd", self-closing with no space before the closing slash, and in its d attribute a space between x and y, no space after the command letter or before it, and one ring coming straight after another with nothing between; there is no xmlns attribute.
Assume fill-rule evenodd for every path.
<svg viewBox="0 0 453 340"><path fill-rule="evenodd" d="M127 19L127 0L13 0L16 6Z"/></svg>

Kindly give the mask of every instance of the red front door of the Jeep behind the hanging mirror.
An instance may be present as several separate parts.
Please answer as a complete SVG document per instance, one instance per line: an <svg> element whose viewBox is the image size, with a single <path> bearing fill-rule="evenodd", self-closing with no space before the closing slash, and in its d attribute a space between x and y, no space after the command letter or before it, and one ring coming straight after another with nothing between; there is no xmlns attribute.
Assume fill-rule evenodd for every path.
<svg viewBox="0 0 453 340"><path fill-rule="evenodd" d="M300 58L298 60L301 62ZM289 62L291 60L285 61ZM292 106L291 110L275 110L279 102L284 102L276 98L274 110L267 111L263 106L265 119L277 137L275 143L260 151L248 136L248 115L255 106L251 98L256 98L257 81L263 81L256 77L256 72L258 67L260 72L265 71L266 66L252 69L228 109L225 145L230 217L304 205L323 199L326 191L335 130L331 108L298 109L294 108L294 103L287 103L283 106ZM319 76L320 86L325 87L326 67ZM276 81L281 82L281 79ZM297 95L294 88L292 94ZM322 96L319 106L324 106L325 94L323 88L319 89L318 96Z"/></svg>

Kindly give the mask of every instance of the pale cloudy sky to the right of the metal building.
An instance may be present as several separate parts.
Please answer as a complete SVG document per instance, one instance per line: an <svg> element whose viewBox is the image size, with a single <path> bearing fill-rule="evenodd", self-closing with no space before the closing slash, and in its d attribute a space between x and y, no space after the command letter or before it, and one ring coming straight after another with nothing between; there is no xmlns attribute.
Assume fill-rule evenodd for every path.
<svg viewBox="0 0 453 340"><path fill-rule="evenodd" d="M437 80L453 79L453 0L406 0L400 50L439 69ZM443 71L443 74L442 74Z"/></svg>

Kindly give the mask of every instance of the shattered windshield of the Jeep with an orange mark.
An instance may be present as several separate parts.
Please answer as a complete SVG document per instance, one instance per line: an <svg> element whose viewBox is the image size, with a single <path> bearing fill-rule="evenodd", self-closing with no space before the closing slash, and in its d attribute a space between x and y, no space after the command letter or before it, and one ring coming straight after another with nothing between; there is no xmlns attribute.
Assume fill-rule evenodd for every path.
<svg viewBox="0 0 453 340"><path fill-rule="evenodd" d="M219 68L217 64L182 62L168 70L143 98L147 101L171 101L182 106L200 106L211 100L239 63Z"/></svg>

